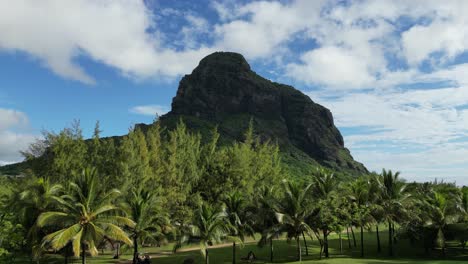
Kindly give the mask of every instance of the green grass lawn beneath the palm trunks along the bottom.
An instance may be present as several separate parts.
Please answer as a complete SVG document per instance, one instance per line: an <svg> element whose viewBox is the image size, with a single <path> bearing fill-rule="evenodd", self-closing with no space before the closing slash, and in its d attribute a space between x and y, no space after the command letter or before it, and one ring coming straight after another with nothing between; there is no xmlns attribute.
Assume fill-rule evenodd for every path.
<svg viewBox="0 0 468 264"><path fill-rule="evenodd" d="M382 252L377 252L377 243L375 232L366 232L364 236L364 250L365 258L360 258L360 240L359 233L356 232L356 247L353 245L349 248L346 233L343 234L343 252L339 251L338 236L331 236L329 239L330 244L330 258L319 260L320 247L317 240L308 240L309 256L305 255L305 247L303 247L303 261L302 263L465 263L468 261L468 249L462 250L456 247L456 242L449 243L446 256L443 257L440 250L432 250L426 254L424 248L420 245L411 245L408 240L400 240L395 245L395 256L388 257L387 253L387 239L386 232L381 231ZM352 239L351 239L351 244ZM153 264L181 264L186 258L194 258L195 263L204 263L199 250L188 250L176 254L171 253L171 245L160 248L142 248L140 251L151 254L153 256ZM187 250L187 248L185 248ZM245 257L248 252L252 250L259 261L255 263L269 263L270 251L269 247L259 248L253 241L247 242L243 247L238 247L237 260L238 263L245 263L240 261L241 257ZM209 250L211 264L230 264L232 263L232 247L213 248ZM288 243L286 240L274 241L274 262L275 263L298 263L296 259L295 243ZM113 253L108 251L97 257L88 258L88 263L91 264L115 264L115 263L128 263L125 260L131 259L131 251L124 252L122 258L117 261L112 259ZM5 262L7 263L7 262ZM13 263L31 263L27 259L18 259ZM39 263L64 263L61 256L50 256L46 260ZM69 263L81 263L80 260L75 259Z"/></svg>

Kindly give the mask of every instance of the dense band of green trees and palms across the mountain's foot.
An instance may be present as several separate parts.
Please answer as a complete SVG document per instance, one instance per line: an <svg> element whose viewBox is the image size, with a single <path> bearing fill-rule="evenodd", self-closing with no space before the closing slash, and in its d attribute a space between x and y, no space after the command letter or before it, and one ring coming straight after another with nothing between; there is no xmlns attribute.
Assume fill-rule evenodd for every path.
<svg viewBox="0 0 468 264"><path fill-rule="evenodd" d="M282 235L296 244L317 239L320 256L329 257L328 236L348 237L361 256L363 232L375 229L378 251L401 238L415 246L440 250L446 240L468 239L468 189L454 184L407 184L399 173L383 170L353 181L339 181L317 168L302 181L290 181L278 146L262 142L252 124L244 140L218 144L216 129L202 139L183 122L166 131L156 122L117 140L101 138L99 123L84 140L79 123L44 138L24 153L33 165L25 177L1 177L0 256L46 253L96 255L112 247L131 247L136 262L142 245L197 243L209 261L215 243L236 243L260 234L259 246ZM296 177L297 178L297 175ZM380 241L378 227L388 228ZM350 234L351 233L351 234ZM352 235L352 238L351 238ZM258 238L258 237L257 237ZM359 238L358 238L359 240ZM342 243L340 243L342 245ZM341 247L340 247L341 249Z"/></svg>

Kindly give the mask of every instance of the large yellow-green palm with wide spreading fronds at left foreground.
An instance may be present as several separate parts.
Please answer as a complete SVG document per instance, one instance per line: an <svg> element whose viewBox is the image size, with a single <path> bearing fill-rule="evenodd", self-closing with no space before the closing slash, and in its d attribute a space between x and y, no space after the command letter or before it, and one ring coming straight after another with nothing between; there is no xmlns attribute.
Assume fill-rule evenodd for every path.
<svg viewBox="0 0 468 264"><path fill-rule="evenodd" d="M104 237L131 245L132 241L119 226L134 226L135 223L118 215L121 209L112 204L120 192L102 192L94 169L86 169L69 184L69 194L57 197L58 210L42 213L37 219L39 227L52 226L62 229L46 235L42 245L60 250L69 243L75 256L81 252L86 263L86 249L91 255L98 254L96 244Z"/></svg>

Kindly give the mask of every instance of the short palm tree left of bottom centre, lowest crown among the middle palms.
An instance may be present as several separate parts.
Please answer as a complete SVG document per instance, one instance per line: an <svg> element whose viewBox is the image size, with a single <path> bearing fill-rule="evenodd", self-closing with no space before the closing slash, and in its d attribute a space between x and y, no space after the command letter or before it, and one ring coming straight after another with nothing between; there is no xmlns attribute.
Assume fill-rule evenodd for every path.
<svg viewBox="0 0 468 264"><path fill-rule="evenodd" d="M226 213L219 206L211 206L208 203L200 202L195 211L192 224L180 227L181 235L174 246L174 251L183 243L198 241L200 251L205 257L205 264L209 264L208 247L221 243L232 227L226 221Z"/></svg>

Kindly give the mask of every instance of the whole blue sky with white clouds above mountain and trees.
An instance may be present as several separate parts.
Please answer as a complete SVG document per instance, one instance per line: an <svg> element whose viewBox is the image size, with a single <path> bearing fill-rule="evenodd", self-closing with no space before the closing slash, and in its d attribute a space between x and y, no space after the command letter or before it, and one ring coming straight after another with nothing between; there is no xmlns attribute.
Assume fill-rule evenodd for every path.
<svg viewBox="0 0 468 264"><path fill-rule="evenodd" d="M219 50L328 107L353 156L468 184L466 1L0 3L0 163L43 129L122 135Z"/></svg>

